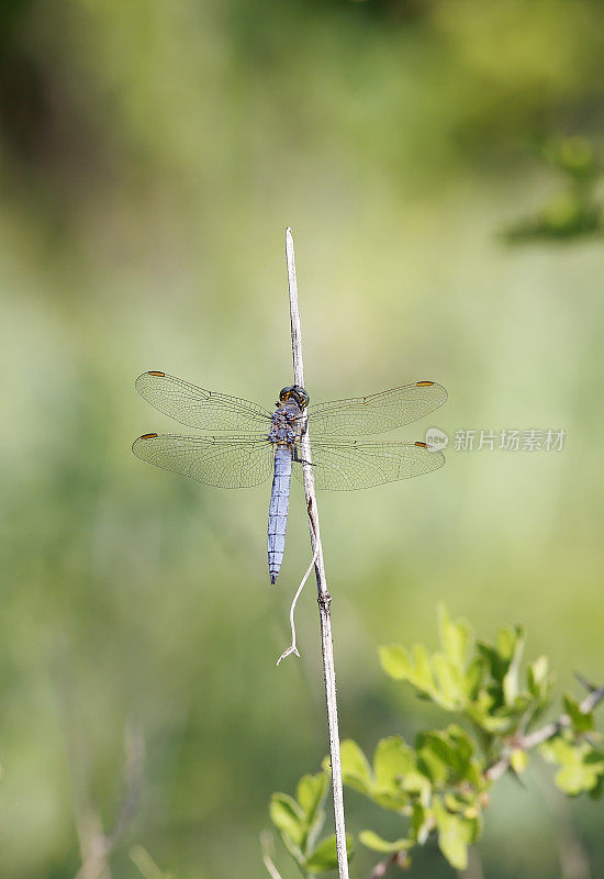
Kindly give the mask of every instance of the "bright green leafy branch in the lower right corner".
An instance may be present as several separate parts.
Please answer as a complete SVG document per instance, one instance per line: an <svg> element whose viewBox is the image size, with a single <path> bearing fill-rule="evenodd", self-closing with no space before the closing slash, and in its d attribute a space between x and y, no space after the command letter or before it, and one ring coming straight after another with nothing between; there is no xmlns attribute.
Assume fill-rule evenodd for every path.
<svg viewBox="0 0 604 879"><path fill-rule="evenodd" d="M581 702L564 694L563 712L538 725L551 705L553 676L545 656L522 674L521 627L501 626L489 644L476 638L468 622L451 621L444 607L438 627L436 653L423 645L411 652L389 645L380 648L380 661L389 677L410 683L422 699L455 714L456 722L421 732L413 745L400 735L382 738L371 761L356 742L342 743L344 783L402 819L394 841L374 830L360 832L359 842L383 856L368 879L391 867L406 869L413 848L434 837L451 866L465 869L468 849L482 834L491 789L507 772L525 772L536 753L557 766L555 782L567 795L595 798L604 787L594 717L604 688L585 685L590 692ZM283 793L271 800L272 822L304 876L334 868L331 838L315 846L328 772L325 759L322 772L302 779L298 800Z"/></svg>

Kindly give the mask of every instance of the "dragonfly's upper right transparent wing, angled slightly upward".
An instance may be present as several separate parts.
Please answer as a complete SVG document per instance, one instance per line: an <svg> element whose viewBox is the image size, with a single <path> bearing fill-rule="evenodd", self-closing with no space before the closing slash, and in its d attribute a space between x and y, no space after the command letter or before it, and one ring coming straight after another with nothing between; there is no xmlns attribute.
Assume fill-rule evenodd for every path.
<svg viewBox="0 0 604 879"><path fill-rule="evenodd" d="M443 405L447 391L434 381L417 381L390 391L332 400L309 407L309 430L315 436L384 433L424 418Z"/></svg>

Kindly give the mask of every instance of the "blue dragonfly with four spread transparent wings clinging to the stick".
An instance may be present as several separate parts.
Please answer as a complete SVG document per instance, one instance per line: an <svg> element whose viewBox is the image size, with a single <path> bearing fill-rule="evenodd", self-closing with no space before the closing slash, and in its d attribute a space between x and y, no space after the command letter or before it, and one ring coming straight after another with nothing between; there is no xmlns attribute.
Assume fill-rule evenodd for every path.
<svg viewBox="0 0 604 879"><path fill-rule="evenodd" d="M268 568L277 582L286 549L292 472L303 479L311 464L317 489L372 488L437 470L441 452L426 443L365 437L417 421L447 399L434 381L416 381L368 397L310 404L298 385L283 388L270 412L257 403L191 385L166 372L143 372L135 388L175 421L209 436L146 433L132 446L142 460L217 488L251 488L272 475L268 518ZM312 460L301 441L312 436Z"/></svg>

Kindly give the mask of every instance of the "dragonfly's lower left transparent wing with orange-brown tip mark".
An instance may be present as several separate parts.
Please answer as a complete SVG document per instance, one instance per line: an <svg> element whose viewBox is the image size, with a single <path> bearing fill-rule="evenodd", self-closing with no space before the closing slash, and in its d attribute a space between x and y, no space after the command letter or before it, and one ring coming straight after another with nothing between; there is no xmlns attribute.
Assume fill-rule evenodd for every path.
<svg viewBox="0 0 604 879"><path fill-rule="evenodd" d="M147 433L134 441L137 458L217 488L251 488L272 472L275 450L266 437L174 436Z"/></svg>

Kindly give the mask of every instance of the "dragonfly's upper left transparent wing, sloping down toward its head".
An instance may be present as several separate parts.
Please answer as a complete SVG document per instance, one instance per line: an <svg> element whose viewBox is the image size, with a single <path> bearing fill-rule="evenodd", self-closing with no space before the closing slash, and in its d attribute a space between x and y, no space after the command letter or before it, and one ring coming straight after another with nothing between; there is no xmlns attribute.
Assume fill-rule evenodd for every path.
<svg viewBox="0 0 604 879"><path fill-rule="evenodd" d="M202 431L250 431L270 422L261 405L206 391L165 372L143 372L134 382L138 393L166 415Z"/></svg>

